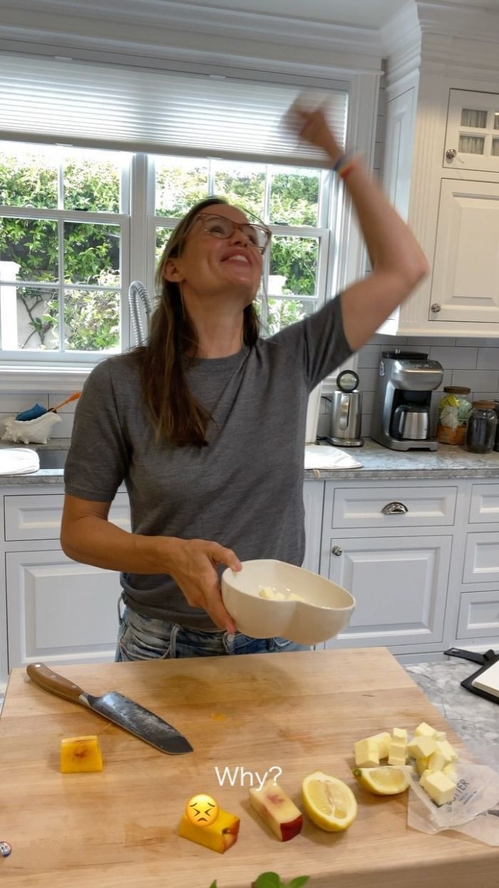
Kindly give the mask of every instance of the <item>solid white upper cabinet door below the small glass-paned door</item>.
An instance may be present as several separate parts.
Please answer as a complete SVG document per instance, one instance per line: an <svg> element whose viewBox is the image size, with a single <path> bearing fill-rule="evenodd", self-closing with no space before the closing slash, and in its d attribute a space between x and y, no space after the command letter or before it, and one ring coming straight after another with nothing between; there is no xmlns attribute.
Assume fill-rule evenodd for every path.
<svg viewBox="0 0 499 888"><path fill-rule="evenodd" d="M442 179L430 321L478 321L499 329L497 244L499 182Z"/></svg>

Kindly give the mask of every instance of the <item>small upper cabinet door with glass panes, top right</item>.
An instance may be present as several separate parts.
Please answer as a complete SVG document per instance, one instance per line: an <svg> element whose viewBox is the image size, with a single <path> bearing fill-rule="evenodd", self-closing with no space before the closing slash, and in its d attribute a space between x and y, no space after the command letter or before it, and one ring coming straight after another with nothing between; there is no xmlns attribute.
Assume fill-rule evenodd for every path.
<svg viewBox="0 0 499 888"><path fill-rule="evenodd" d="M499 94L449 91L443 166L499 172Z"/></svg>

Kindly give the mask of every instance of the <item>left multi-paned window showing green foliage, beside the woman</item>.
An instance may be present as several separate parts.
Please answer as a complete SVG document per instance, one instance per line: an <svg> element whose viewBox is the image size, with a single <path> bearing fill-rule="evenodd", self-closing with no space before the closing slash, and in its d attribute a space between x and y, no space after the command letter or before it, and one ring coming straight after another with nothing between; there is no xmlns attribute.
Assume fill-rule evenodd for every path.
<svg viewBox="0 0 499 888"><path fill-rule="evenodd" d="M0 337L43 360L126 344L124 152L0 143Z"/></svg>

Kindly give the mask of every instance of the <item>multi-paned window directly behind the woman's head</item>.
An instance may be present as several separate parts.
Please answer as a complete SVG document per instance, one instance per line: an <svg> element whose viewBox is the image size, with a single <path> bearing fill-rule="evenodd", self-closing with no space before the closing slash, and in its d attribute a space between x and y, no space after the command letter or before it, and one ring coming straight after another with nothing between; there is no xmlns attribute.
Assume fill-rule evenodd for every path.
<svg viewBox="0 0 499 888"><path fill-rule="evenodd" d="M156 261L178 218L217 195L261 218L272 231L257 299L267 334L300 321L324 303L330 248L331 173L269 163L155 156Z"/></svg>

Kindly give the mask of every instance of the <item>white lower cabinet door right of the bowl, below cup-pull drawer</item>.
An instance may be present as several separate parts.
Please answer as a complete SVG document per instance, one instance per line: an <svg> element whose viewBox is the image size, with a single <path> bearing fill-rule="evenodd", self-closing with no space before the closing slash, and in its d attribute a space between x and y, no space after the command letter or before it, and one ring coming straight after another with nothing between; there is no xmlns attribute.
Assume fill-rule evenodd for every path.
<svg viewBox="0 0 499 888"><path fill-rule="evenodd" d="M451 550L452 535L331 537L327 575L356 607L326 646L441 642Z"/></svg>

